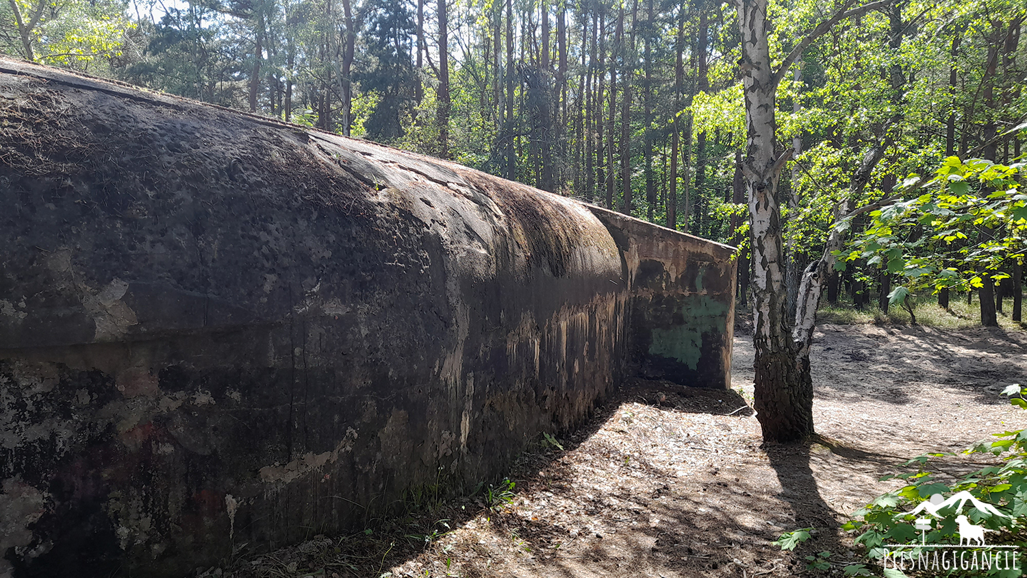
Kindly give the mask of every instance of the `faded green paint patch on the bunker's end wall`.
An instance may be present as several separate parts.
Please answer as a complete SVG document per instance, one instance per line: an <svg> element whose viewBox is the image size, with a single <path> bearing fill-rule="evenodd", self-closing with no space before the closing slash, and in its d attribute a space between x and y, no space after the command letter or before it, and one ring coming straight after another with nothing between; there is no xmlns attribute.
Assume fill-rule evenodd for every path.
<svg viewBox="0 0 1027 578"><path fill-rule="evenodd" d="M652 330L649 354L676 359L695 370L702 352L702 334L727 329L727 305L707 295L693 296L682 304L680 313L684 323Z"/></svg>

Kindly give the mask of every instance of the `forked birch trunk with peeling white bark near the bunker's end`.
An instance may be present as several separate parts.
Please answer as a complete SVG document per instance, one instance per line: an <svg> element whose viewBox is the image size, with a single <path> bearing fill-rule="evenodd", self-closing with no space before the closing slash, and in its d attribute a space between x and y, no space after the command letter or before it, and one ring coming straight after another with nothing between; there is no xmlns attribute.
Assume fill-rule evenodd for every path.
<svg viewBox="0 0 1027 578"><path fill-rule="evenodd" d="M809 347L816 322L816 308L820 305L825 281L834 270L834 253L840 251L845 235L844 229L839 230L838 227L832 227L823 257L805 268L802 281L799 284L795 322L791 331L792 341L787 345L781 343L781 334L787 333L788 325L787 319L775 318L776 315L781 314L782 306L785 306L787 310L787 302L781 297L784 292L781 291L781 210L776 204L776 187L781 169L794 151L787 151L776 159L773 158L773 134L776 127L774 92L783 75L799 57L802 50L817 36L830 31L835 24L883 6L889 6L897 11L895 13L901 16L896 0L879 0L863 4L859 8L849 9L853 3L854 0L846 0L831 18L819 24L789 52L777 72L771 72L769 66L770 54L765 21L766 0L739 0L738 5L739 27L743 36L743 60L739 65L744 71L747 71L744 73L746 75L746 111L749 121L749 156L752 159L745 168L751 188L750 218L752 221L753 261L757 265L754 276L763 277L756 283L754 295L764 294L754 298L756 302L754 304L756 308L754 317L758 330L761 325L760 317L764 317L765 324L768 325L767 329L757 331L756 334L756 399L759 401L761 397L759 386L763 380L769 385L769 387L764 387L765 392L762 394L764 399L768 399L764 403L769 410L781 411L778 408L784 406L783 398L793 401L793 407L788 407L784 416L775 415L773 420L767 419L768 422L773 421L776 424L776 427L773 428L768 428L765 425L763 427L765 438L770 439L800 439L813 433ZM895 22L892 17L892 27L895 27ZM908 27L901 27L900 32L891 35L891 46L902 44L901 31L906 30L906 28ZM898 98L901 94L898 87L904 81L901 69L898 72L897 77L893 67L891 86L896 88L896 100L892 104L897 110L900 105ZM900 118L897 112L892 115L889 124ZM891 137L889 134L890 131L885 129L883 134L878 138L876 145L864 154L863 160L852 177L848 200L835 207L836 222L841 218L851 219L858 214L853 210L852 199L859 198L863 189L870 182L874 167L883 158L887 147L890 146ZM779 327L784 327L785 331ZM763 341L762 344L761 341ZM761 363L759 362L761 354L779 355L783 350L789 348L789 345L795 355L794 367L798 371L798 378L795 381L785 381L786 378L776 376L761 378ZM786 373L785 376L787 377L788 374ZM757 412L763 413L759 408L757 408ZM764 422L761 420L760 423Z"/></svg>

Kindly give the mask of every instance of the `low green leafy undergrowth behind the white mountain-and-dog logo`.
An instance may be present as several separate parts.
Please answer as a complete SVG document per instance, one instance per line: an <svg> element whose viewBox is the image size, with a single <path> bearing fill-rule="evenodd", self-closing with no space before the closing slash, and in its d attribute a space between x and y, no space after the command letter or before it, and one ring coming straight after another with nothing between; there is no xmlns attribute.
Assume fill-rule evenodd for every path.
<svg viewBox="0 0 1027 578"><path fill-rule="evenodd" d="M1002 393L1013 396L1014 406L1027 410L1027 388L1014 384ZM903 465L914 466L915 471L882 477L882 481L898 478L906 485L879 496L842 526L858 534L855 543L863 556L863 563L848 564L842 573L884 578L1023 576L1027 564L1023 555L1027 551L1027 429L1002 431L993 437L962 453L1000 460L952 484L930 471L933 460L951 455L945 453L913 458ZM774 544L794 550L813 532L811 528L788 532ZM831 555L822 551L805 556L807 571L832 569Z"/></svg>

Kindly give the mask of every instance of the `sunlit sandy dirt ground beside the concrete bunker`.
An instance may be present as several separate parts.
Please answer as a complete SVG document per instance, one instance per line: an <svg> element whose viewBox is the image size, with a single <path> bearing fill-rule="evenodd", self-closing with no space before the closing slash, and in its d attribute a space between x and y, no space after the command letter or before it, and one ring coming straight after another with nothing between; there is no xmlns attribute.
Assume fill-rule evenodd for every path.
<svg viewBox="0 0 1027 578"><path fill-rule="evenodd" d="M565 451L527 456L509 503L490 511L466 499L423 518L419 533L452 529L426 547L325 538L237 575L794 576L810 551L853 558L851 537L837 527L896 487L878 478L897 464L1027 426L1027 414L998 395L1027 383L1024 333L822 325L813 410L830 447L761 449L745 409L750 339L734 342L735 391L633 384L561 440ZM796 553L770 544L803 527L819 532Z"/></svg>

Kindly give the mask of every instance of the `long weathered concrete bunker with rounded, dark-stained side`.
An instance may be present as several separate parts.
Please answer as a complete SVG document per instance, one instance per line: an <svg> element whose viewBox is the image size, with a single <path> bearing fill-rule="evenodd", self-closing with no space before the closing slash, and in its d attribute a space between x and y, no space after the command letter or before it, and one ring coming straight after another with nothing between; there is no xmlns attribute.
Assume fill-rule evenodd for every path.
<svg viewBox="0 0 1027 578"><path fill-rule="evenodd" d="M0 118L0 576L181 575L727 383L719 245L3 60Z"/></svg>

